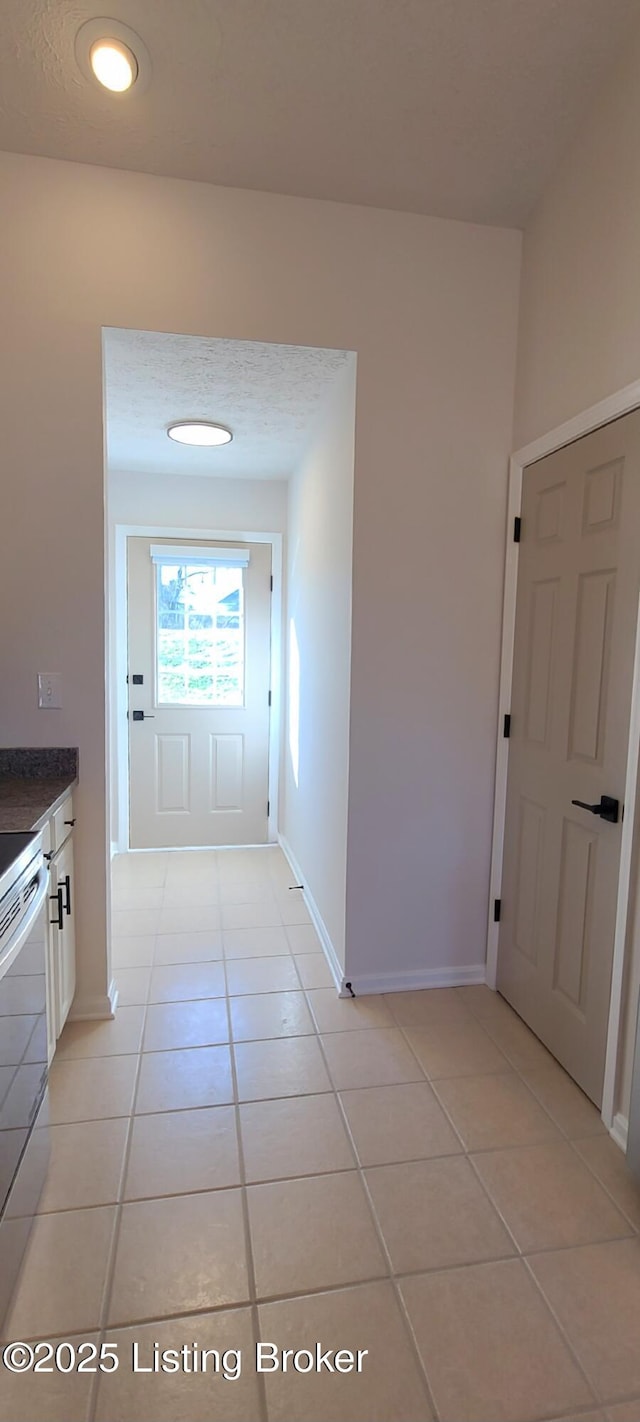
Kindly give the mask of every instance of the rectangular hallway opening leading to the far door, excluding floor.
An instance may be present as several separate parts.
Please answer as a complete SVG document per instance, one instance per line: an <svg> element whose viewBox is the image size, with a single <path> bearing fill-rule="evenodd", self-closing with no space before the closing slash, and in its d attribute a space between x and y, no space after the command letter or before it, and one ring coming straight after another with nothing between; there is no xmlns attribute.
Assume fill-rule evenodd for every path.
<svg viewBox="0 0 640 1422"><path fill-rule="evenodd" d="M105 330L104 368L112 859L280 846L340 978L356 356Z"/></svg>

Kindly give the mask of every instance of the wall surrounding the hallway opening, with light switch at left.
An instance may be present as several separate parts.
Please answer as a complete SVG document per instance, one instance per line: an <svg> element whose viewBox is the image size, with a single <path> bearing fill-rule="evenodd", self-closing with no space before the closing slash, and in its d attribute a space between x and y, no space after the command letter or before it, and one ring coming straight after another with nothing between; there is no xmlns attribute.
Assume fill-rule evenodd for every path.
<svg viewBox="0 0 640 1422"><path fill-rule="evenodd" d="M104 326L357 351L350 968L479 964L519 235L10 154L0 202L3 739L80 745L80 1003L107 990Z"/></svg>

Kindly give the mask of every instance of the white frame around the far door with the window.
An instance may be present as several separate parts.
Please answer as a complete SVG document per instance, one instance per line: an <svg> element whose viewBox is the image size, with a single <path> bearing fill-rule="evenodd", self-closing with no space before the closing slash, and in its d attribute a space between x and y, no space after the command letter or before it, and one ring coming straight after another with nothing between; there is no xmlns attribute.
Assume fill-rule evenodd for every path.
<svg viewBox="0 0 640 1422"><path fill-rule="evenodd" d="M112 651L110 656L110 705L114 720L115 785L118 799L117 839L111 843L112 853L129 849L129 738L128 738L128 602L127 602L127 540L129 538L191 539L193 543L270 543L272 546L272 714L269 720L269 819L267 845L277 843L279 786L280 786L280 744L282 744L282 688L283 688L283 533L243 533L239 529L166 528L156 523L115 523L112 557L110 559L110 580L112 582L111 614L114 624ZM108 798L111 816L111 795L114 776L110 776ZM110 818L111 823L111 818Z"/></svg>

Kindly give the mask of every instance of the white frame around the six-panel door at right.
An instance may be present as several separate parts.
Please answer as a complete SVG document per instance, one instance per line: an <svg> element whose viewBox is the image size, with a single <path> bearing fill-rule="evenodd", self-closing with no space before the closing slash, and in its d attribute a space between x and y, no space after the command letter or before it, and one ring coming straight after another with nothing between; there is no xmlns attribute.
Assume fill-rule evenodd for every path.
<svg viewBox="0 0 640 1422"><path fill-rule="evenodd" d="M640 407L640 381L626 385L599 400L589 410L583 410L572 419L556 425L548 434L540 435L530 444L516 449L509 459L509 489L506 501L506 546L505 546L505 583L502 599L502 648L498 697L498 727L496 727L496 758L495 758L495 796L494 796L494 835L491 846L491 877L489 877L489 916L486 929L486 984L495 988L498 973L498 937L499 924L494 917L494 903L502 897L502 860L505 848L505 816L506 816L506 778L509 769L509 741L503 735L503 718L511 711L511 693L513 678L513 640L518 596L518 555L519 545L513 542L513 519L521 513L522 479L525 469L543 459L548 454L555 454L565 445L573 444L583 435L599 429L602 425L627 415ZM623 1116L616 1115L616 1078L619 1062L624 960L629 931L629 904L631 882L631 855L634 843L636 819L636 788L640 758L640 603L636 621L636 653L633 664L631 688L631 720L629 727L629 754L624 782L626 815L622 829L620 843L620 873L617 882L616 933L613 943L612 968L612 997L609 1004L607 1048L604 1059L604 1086L602 1101L602 1119L614 1136L617 1143L626 1149L626 1126Z"/></svg>

